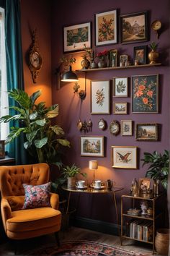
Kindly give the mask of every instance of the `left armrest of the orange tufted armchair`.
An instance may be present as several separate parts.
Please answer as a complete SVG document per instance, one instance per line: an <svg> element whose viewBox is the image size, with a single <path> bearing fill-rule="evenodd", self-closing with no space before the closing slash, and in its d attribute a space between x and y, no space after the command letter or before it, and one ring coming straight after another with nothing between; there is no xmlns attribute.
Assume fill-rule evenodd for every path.
<svg viewBox="0 0 170 256"><path fill-rule="evenodd" d="M4 226L4 230L6 232L6 221L9 218L12 218L12 209L9 205L8 200L2 197L1 199L1 218L2 218L2 223Z"/></svg>

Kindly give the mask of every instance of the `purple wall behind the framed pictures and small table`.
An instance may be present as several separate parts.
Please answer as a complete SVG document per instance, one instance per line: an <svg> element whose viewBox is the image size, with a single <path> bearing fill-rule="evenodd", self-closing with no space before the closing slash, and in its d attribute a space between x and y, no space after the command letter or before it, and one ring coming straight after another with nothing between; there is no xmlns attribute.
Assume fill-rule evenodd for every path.
<svg viewBox="0 0 170 256"><path fill-rule="evenodd" d="M58 122L62 125L66 132L68 140L71 141L71 150L68 150L67 161L68 163L76 163L87 172L88 180L92 179L92 172L88 168L89 160L97 160L99 162L99 169L97 170L97 178L106 180L114 179L117 186L125 187L123 192L117 194L118 205L120 210L120 195L130 190L130 184L134 177L140 178L145 176L146 167L142 168L140 159L143 158L144 152L153 152L158 150L162 153L164 149L169 148L169 0L164 0L164 5L161 1L155 2L153 0L148 1L112 1L112 0L72 0L68 1L53 1L52 11L52 70L54 72L55 67L58 67L58 60L63 56L63 26L76 25L84 22L92 22L92 46L94 47L94 14L99 12L105 12L108 10L118 9L119 14L130 14L134 12L149 11L148 18L148 30L150 41L143 43L125 44L121 45L117 43L111 46L97 47L96 51L102 51L103 49L117 48L121 54L128 54L133 58L133 47L148 45L151 41L157 41L156 34L151 30L151 22L153 20L161 20L162 29L161 35L158 40L160 53L161 67L148 67L140 69L120 69L103 72L89 72L87 73L87 95L86 99L81 100L73 94L73 83L62 85L61 90L56 90L55 75L53 75L53 103L58 103L60 106L60 115ZM119 27L117 28L119 30ZM120 101L127 101L130 109L127 115L113 115L112 111L110 115L91 115L90 114L90 80L94 79L112 79L115 76L131 77L136 74L159 74L159 113L158 114L132 114L131 112L131 90L128 98L120 98ZM84 74L79 74L79 77L84 77ZM84 88L84 80L80 82L81 88ZM130 85L129 85L130 88ZM119 101L116 99L115 101ZM112 98L111 98L112 105ZM111 106L112 110L112 106ZM102 135L105 137L105 157L104 158L91 158L80 156L80 136L84 135L84 132L79 132L76 128L77 121L81 118L82 121L91 119L93 123L92 132L87 135ZM158 142L138 142L135 140L135 125L133 129L132 137L122 137L117 135L116 137L110 135L109 129L100 131L97 127L99 119L105 119L109 125L113 119L121 120L133 120L133 123L158 123L161 124L159 130L160 140ZM137 170L119 169L111 167L111 146L137 146L139 148L138 163L139 168ZM82 196L84 203L81 203L78 214L85 218L94 218L101 221L116 221L115 208L112 205L112 198L110 195L95 195L93 199L89 196ZM76 199L76 196L74 197ZM82 202L82 200L80 200ZM93 207L91 208L91 203ZM89 205L88 209L85 205ZM102 209L101 209L102 205ZM107 209L107 210L106 210Z"/></svg>

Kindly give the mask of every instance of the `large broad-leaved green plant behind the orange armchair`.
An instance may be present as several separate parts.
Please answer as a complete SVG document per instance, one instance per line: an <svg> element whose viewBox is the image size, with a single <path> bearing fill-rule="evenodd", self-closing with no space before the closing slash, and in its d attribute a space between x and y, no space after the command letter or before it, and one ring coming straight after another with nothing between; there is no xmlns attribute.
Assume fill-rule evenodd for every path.
<svg viewBox="0 0 170 256"><path fill-rule="evenodd" d="M15 124L6 138L6 144L24 134L24 148L38 163L58 163L61 148L69 147L70 142L64 138L60 126L51 124L51 120L58 116L58 104L50 107L46 107L44 102L35 104L40 95L40 90L30 96L24 90L9 91L9 97L17 103L17 106L9 108L16 114L1 116L0 122L14 121Z"/></svg>

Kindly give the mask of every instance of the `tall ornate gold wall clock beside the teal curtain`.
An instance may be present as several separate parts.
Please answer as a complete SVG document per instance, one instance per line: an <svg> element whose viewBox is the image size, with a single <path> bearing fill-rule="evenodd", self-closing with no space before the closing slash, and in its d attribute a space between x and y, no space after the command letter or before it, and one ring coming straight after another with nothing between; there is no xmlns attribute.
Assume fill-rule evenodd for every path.
<svg viewBox="0 0 170 256"><path fill-rule="evenodd" d="M29 52L29 64L28 67L32 74L32 81L36 83L37 76L42 67L42 56L40 55L40 49L37 46L37 30L32 31L32 44Z"/></svg>

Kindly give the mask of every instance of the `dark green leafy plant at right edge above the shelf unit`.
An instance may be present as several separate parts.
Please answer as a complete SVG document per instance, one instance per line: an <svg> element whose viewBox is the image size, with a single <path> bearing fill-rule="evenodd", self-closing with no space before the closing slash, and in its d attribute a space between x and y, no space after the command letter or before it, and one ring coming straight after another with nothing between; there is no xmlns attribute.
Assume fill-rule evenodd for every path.
<svg viewBox="0 0 170 256"><path fill-rule="evenodd" d="M169 176L169 151L164 150L164 153L144 153L143 166L150 164L146 176L152 178L155 182L158 180L161 182L164 189L168 187L168 176Z"/></svg>

